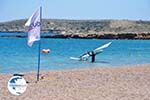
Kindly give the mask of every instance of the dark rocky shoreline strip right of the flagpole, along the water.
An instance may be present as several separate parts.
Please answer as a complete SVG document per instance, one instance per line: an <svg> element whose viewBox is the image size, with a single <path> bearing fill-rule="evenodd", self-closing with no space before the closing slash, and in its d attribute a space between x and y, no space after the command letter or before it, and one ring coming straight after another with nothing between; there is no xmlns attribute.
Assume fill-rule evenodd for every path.
<svg viewBox="0 0 150 100"><path fill-rule="evenodd" d="M58 34L42 36L43 38L79 38L79 39L150 39L150 33L124 33L124 34Z"/></svg>

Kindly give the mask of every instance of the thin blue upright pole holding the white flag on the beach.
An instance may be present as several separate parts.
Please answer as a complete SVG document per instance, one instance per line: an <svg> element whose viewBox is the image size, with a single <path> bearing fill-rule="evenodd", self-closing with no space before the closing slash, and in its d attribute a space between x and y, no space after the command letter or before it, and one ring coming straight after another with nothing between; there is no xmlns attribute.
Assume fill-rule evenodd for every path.
<svg viewBox="0 0 150 100"><path fill-rule="evenodd" d="M40 6L40 33L42 29L42 6ZM40 76L40 63L41 63L41 39L39 40L39 53L38 53L38 71L37 71L37 81L39 81Z"/></svg>

